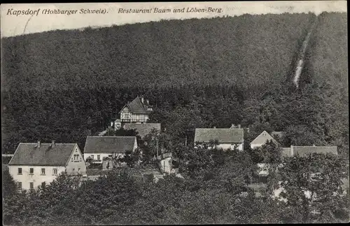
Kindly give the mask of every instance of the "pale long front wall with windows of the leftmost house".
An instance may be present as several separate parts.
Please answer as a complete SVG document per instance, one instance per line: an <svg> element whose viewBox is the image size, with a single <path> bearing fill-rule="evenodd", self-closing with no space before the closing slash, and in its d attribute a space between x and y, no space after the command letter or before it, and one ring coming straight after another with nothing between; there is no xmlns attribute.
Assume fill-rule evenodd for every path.
<svg viewBox="0 0 350 226"><path fill-rule="evenodd" d="M18 175L18 168L22 168L22 175ZM29 174L29 168L34 169L33 174ZM45 175L41 175L41 169L45 169ZM53 169L57 169L57 174L53 174ZM29 183L34 183L34 188L41 186L41 183L51 183L55 178L64 172L66 167L41 167L41 166L8 166L8 170L17 182L22 182L22 189L29 189Z"/></svg>

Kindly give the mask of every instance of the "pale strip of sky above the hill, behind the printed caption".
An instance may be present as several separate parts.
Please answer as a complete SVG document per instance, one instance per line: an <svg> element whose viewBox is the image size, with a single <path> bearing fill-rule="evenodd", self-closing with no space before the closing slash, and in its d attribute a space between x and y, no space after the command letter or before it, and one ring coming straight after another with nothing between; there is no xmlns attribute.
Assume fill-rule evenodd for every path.
<svg viewBox="0 0 350 226"><path fill-rule="evenodd" d="M221 13L118 13L124 9L221 8ZM80 9L105 9L107 13L81 14ZM10 15L15 10L38 10L38 15ZM73 15L42 14L45 9L78 10ZM158 3L18 3L1 4L1 37L17 36L55 29L110 27L169 19L217 17L266 13L346 12L346 1L232 1L232 2L158 2Z"/></svg>

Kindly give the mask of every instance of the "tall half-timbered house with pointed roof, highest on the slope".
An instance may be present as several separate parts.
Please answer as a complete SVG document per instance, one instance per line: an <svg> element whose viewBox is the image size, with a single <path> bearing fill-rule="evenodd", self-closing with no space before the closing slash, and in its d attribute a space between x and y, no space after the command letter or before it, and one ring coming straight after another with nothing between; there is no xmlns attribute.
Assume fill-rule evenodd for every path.
<svg viewBox="0 0 350 226"><path fill-rule="evenodd" d="M122 110L120 110L120 121L135 123L147 122L149 114L152 111L153 106L149 104L148 99L144 99L143 96L136 97L130 103L125 104Z"/></svg>

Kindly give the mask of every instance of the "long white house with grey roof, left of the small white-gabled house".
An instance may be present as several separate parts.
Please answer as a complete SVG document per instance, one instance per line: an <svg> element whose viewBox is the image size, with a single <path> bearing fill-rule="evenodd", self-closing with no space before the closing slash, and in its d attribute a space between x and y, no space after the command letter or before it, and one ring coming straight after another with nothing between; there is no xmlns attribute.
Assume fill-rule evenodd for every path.
<svg viewBox="0 0 350 226"><path fill-rule="evenodd" d="M216 148L223 150L243 150L244 148L244 129L232 125L230 128L196 128L195 146L198 143L210 144L212 141L218 141ZM210 147L209 147L210 148Z"/></svg>

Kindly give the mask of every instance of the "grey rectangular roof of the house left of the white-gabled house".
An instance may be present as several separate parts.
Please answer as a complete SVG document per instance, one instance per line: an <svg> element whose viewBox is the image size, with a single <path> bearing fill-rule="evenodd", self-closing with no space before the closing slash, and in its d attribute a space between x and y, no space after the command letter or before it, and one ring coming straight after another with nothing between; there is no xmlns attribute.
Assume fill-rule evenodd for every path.
<svg viewBox="0 0 350 226"><path fill-rule="evenodd" d="M209 143L218 140L219 143L243 143L244 129L197 128L195 129L195 142Z"/></svg>

